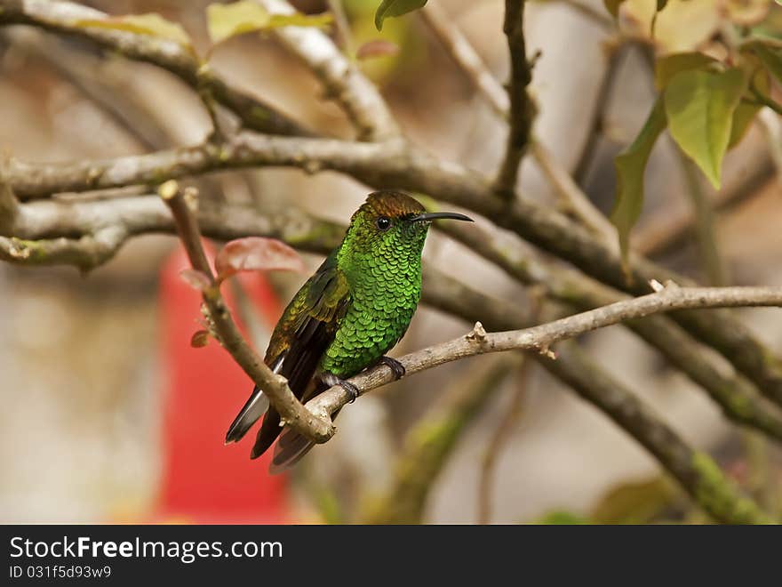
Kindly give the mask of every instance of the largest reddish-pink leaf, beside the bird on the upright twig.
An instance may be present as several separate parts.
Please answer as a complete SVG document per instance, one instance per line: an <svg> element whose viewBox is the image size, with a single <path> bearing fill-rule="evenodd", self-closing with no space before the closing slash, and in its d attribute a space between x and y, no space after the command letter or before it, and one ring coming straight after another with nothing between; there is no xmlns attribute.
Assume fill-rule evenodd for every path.
<svg viewBox="0 0 782 587"><path fill-rule="evenodd" d="M290 246L275 238L246 237L227 243L214 261L218 279L239 271L304 271L304 263Z"/></svg>

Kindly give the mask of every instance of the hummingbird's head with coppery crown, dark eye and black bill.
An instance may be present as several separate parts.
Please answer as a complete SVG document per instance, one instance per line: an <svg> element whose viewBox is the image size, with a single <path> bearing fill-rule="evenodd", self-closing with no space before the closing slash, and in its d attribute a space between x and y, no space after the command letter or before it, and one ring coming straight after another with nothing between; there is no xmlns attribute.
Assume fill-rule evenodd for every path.
<svg viewBox="0 0 782 587"><path fill-rule="evenodd" d="M417 200L399 191L372 192L350 219L340 264L361 267L371 258L420 260L429 226L438 219L472 221L459 213L427 213Z"/></svg>

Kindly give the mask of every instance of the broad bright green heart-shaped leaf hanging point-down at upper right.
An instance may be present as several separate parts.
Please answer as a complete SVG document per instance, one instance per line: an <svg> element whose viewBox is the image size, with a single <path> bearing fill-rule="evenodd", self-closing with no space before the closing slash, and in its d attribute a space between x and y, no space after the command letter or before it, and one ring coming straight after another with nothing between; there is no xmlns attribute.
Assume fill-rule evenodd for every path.
<svg viewBox="0 0 782 587"><path fill-rule="evenodd" d="M739 68L722 73L688 70L676 74L664 94L671 136L714 188L720 187L733 113L746 86Z"/></svg>

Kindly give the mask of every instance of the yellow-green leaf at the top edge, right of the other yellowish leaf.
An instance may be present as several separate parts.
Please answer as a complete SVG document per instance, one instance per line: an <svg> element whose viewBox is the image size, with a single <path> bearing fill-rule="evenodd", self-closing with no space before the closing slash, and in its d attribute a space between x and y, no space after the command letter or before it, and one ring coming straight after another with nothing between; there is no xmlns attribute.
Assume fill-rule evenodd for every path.
<svg viewBox="0 0 782 587"><path fill-rule="evenodd" d="M212 44L219 44L232 36L279 27L326 27L331 24L331 13L308 15L301 12L272 14L251 0L234 4L210 4L206 21Z"/></svg>

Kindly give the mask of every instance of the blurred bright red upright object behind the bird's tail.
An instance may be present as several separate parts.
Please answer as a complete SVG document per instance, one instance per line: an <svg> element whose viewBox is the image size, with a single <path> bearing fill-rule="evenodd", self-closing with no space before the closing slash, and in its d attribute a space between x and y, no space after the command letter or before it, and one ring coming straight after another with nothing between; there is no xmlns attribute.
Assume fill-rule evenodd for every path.
<svg viewBox="0 0 782 587"><path fill-rule="evenodd" d="M201 294L180 278L180 271L188 267L180 249L165 262L160 279L161 366L166 376L161 434L164 469L154 518L283 523L289 517L285 478L268 475L270 453L250 460L255 430L239 444L223 444L228 425L248 398L252 383L213 339L201 349L190 346L191 336L202 326ZM241 280L271 332L282 307L267 279L260 274L233 278ZM238 321L231 287L226 284L222 289Z"/></svg>

